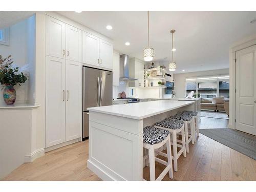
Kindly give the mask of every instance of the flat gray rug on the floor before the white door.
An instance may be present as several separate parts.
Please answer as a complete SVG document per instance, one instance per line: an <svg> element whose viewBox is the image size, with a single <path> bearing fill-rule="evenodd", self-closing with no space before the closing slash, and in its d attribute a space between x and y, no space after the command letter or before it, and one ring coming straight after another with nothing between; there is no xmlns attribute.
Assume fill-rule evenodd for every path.
<svg viewBox="0 0 256 192"><path fill-rule="evenodd" d="M232 129L200 129L199 133L256 160L256 136Z"/></svg>

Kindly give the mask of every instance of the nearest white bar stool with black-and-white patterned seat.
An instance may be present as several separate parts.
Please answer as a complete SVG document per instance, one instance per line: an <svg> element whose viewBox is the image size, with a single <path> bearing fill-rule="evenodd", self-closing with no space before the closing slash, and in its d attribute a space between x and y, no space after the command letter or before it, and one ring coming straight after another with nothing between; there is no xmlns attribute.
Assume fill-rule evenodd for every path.
<svg viewBox="0 0 256 192"><path fill-rule="evenodd" d="M150 161L150 180L161 181L164 176L169 172L169 178L173 179L173 162L172 150L170 148L170 133L167 130L162 130L154 126L146 126L143 129L143 147L148 150L148 154L143 157L143 160L149 159ZM167 148L167 161L155 157L155 149L166 144ZM166 165L163 172L156 179L155 160L161 164ZM144 180L144 179L143 179Z"/></svg>

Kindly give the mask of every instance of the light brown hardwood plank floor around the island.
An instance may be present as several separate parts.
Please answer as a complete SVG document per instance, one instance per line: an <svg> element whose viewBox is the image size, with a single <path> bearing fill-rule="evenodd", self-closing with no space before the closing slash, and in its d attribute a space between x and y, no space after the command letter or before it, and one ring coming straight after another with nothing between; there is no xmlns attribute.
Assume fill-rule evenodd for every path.
<svg viewBox="0 0 256 192"><path fill-rule="evenodd" d="M221 119L225 120L225 119ZM219 120L218 120L219 121ZM220 126L228 122L220 123ZM212 124L212 125L211 125ZM216 119L202 118L200 129L220 128ZM227 127L227 126L226 126ZM98 181L87 168L88 140L61 147L46 153L32 163L25 163L15 169L4 180L13 181ZM164 158L162 158L164 159ZM156 176L164 165L156 162ZM149 179L149 168L143 168L143 178ZM190 144L187 157L178 159L178 172L174 179L165 181L255 181L256 161L218 143L202 134L197 142Z"/></svg>

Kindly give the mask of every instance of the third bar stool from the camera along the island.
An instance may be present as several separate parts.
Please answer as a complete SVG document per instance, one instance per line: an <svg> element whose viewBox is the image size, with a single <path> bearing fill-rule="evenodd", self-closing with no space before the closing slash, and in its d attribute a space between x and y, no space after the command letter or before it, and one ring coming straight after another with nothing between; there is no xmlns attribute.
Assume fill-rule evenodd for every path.
<svg viewBox="0 0 256 192"><path fill-rule="evenodd" d="M169 119L181 120L184 122L185 127L185 139L186 139L186 152L189 153L189 143L190 141L194 144L194 118L189 114L178 113L174 116L170 116ZM190 134L188 133L187 125L190 124Z"/></svg>

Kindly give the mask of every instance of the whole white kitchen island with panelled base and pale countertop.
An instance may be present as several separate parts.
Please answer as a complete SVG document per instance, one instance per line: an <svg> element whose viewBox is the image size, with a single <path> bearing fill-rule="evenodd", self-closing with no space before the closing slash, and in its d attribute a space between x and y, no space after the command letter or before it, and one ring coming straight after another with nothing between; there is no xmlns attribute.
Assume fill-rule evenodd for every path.
<svg viewBox="0 0 256 192"><path fill-rule="evenodd" d="M88 108L90 168L104 181L142 181L143 127L183 110L193 101L157 100Z"/></svg>

